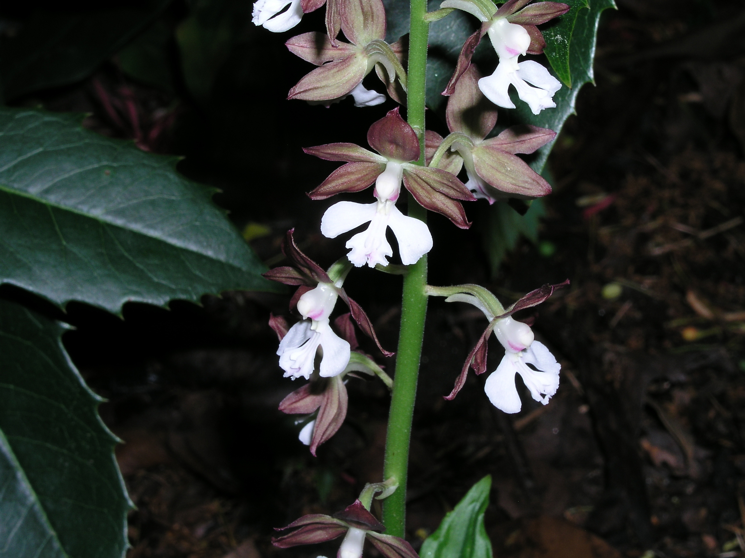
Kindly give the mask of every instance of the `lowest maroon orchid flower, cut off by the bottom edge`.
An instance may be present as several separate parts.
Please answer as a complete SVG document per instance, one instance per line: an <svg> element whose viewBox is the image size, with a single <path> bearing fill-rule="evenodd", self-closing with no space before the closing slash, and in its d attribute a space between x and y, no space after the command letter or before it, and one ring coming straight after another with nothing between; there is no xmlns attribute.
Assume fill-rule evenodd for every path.
<svg viewBox="0 0 745 558"><path fill-rule="evenodd" d="M294 531L273 538L274 546L290 548L297 545L313 545L344 535L337 558L361 558L365 539L385 558L419 558L404 539L379 533L385 529L384 525L378 522L359 500L334 516L313 513L277 530L286 529Z"/></svg>

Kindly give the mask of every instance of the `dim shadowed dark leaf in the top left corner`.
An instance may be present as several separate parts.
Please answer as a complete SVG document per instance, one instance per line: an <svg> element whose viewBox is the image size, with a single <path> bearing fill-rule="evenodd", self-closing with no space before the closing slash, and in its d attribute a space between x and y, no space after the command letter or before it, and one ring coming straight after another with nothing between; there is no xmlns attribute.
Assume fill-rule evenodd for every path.
<svg viewBox="0 0 745 558"><path fill-rule="evenodd" d="M0 42L5 100L83 80L153 21L171 0L90 10L43 10Z"/></svg>

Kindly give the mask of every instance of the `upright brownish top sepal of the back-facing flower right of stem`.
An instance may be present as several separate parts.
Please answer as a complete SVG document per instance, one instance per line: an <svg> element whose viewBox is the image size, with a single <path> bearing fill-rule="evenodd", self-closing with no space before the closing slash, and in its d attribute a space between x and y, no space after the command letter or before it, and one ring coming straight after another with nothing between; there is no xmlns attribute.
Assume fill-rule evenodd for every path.
<svg viewBox="0 0 745 558"><path fill-rule="evenodd" d="M497 109L478 89L480 78L476 66L469 66L455 84L445 112L451 132L463 132L474 140L486 138L497 124Z"/></svg>

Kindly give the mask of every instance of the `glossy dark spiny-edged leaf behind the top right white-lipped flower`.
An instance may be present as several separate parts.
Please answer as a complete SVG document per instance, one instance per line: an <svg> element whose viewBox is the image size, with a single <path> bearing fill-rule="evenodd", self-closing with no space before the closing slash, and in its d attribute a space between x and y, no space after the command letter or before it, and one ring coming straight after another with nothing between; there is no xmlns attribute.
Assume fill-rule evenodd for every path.
<svg viewBox="0 0 745 558"><path fill-rule="evenodd" d="M524 124L533 124L542 128L549 128L559 132L569 115L574 114L574 104L577 101L577 94L585 83L591 83L595 80L595 72L592 69L592 62L595 59L595 39L597 36L597 25L600 22L600 14L609 7L615 8L613 0L589 0L589 8L582 8L577 12L577 22L574 25L574 31L571 33L571 43L569 46L569 68L571 70L571 89L562 86L554 94L554 102L557 103L554 109L544 109L539 115L533 115L527 104L523 103L514 94L513 102L516 103L517 109L516 120ZM571 13L571 12L570 12ZM568 14L567 14L568 15ZM547 39L548 41L548 39ZM554 140L555 141L555 140ZM537 173L543 170L554 147L554 141L541 147L537 152L536 158L530 161L530 166Z"/></svg>

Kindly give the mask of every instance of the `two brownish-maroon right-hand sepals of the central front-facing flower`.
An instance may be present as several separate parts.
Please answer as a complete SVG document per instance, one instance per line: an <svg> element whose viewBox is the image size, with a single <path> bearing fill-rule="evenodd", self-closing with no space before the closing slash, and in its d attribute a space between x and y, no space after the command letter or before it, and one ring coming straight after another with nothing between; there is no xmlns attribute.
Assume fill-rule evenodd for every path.
<svg viewBox="0 0 745 558"><path fill-rule="evenodd" d="M440 182L439 179L442 176L433 176L434 171L440 171L440 173L452 176L452 179ZM460 185L460 187L454 181L457 181L457 185ZM453 197L457 196L457 199L469 201L475 200L475 197L463 185L463 182L460 182L460 180L450 173L431 167L416 167L416 172L412 172L410 168L407 168L404 170L404 186L422 207L444 215L459 228L469 228L471 226L471 223L466 218L466 211L463 209L463 205L456 201L456 199L453 199ZM443 193L443 191L447 193ZM468 197L466 197L466 192L468 192Z"/></svg>

